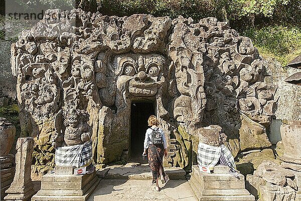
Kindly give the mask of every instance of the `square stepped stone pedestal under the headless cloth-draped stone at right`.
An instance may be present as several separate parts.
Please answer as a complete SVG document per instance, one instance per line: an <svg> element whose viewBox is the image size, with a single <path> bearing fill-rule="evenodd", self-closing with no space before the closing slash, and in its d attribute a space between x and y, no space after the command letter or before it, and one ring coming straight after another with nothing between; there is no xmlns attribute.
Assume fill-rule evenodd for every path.
<svg viewBox="0 0 301 201"><path fill-rule="evenodd" d="M227 173L225 166L216 166L214 173L200 172L197 165L192 166L192 176L189 184L198 200L255 200L255 197L245 189L244 176L239 179Z"/></svg>

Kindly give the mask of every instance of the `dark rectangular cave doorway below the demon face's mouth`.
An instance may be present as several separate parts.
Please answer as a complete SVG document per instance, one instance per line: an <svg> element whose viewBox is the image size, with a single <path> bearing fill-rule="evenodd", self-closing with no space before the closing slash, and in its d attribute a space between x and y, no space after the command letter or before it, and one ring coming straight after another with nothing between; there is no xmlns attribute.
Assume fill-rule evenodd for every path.
<svg viewBox="0 0 301 201"><path fill-rule="evenodd" d="M147 120L155 115L154 103L133 102L130 111L130 162L147 163L142 160L145 132L148 128Z"/></svg>

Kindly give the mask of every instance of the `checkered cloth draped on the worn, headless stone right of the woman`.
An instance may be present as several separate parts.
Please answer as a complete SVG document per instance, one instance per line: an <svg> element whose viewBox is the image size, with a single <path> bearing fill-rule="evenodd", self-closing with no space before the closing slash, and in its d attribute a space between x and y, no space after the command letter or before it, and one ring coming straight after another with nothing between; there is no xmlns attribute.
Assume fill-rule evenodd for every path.
<svg viewBox="0 0 301 201"><path fill-rule="evenodd" d="M234 157L231 154L231 151L225 146L221 145L219 147L214 147L211 145L207 145L204 143L199 143L198 146L198 164L201 166L207 166L210 170L217 164L221 155L223 155L223 159L226 160L227 165L235 170L236 165L234 161Z"/></svg>

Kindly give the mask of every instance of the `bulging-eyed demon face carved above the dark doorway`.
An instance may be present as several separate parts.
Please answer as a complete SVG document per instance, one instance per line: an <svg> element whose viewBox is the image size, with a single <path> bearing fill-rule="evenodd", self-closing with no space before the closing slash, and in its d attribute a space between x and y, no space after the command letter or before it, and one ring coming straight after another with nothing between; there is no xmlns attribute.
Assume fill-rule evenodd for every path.
<svg viewBox="0 0 301 201"><path fill-rule="evenodd" d="M122 96L124 107L127 105L128 97L151 99L156 97L159 116L169 118L169 113L162 104L162 89L167 84L165 59L162 55L116 55L113 58L112 69L116 75L116 88Z"/></svg>

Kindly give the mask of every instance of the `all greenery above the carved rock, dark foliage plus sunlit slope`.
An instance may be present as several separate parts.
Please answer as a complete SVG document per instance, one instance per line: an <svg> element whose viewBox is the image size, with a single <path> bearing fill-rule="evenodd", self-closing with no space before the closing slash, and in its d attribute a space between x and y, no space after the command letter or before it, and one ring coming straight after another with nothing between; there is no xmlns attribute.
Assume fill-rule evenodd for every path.
<svg viewBox="0 0 301 201"><path fill-rule="evenodd" d="M37 2L47 7L72 7L73 0L30 0L23 7L37 6ZM276 57L283 65L300 53L299 0L76 0L76 6L119 17L145 13L174 19L182 15L196 22L216 17L249 36L262 55ZM3 22L0 18L0 39L5 38Z"/></svg>

